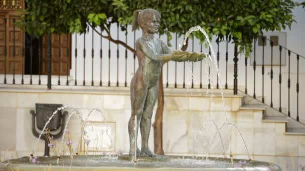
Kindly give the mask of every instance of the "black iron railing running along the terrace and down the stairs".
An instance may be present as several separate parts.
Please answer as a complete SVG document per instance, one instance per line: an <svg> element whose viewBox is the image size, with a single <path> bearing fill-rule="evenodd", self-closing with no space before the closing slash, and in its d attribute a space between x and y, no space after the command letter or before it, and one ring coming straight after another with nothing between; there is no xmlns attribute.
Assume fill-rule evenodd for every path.
<svg viewBox="0 0 305 171"><path fill-rule="evenodd" d="M12 19L13 22L16 22L16 19ZM3 75L4 75L4 80L1 82L3 84L17 84L19 83L19 80L16 80L16 44L15 44L15 33L16 33L16 26L15 24L13 24L13 39L12 39L12 44L13 44L13 52L12 55L10 57L13 58L13 72L11 74L13 74L12 77L12 81L8 80L8 66L7 66L7 60L8 60L8 50L7 50L7 46L8 46L8 39L7 39L7 24L8 18L4 18L4 24L5 24L5 34L4 34L4 55L0 56L3 57L4 59L4 71L3 71ZM126 29L124 31L124 35L125 37L120 37L120 27L119 24L117 24L117 28L116 28L116 34L117 34L117 39L121 38L124 39L124 42L131 46L134 47L135 46L135 40L136 40L136 31L132 33L129 33ZM91 37L89 36L89 33L84 33L82 35L79 34L75 34L73 37L73 44L74 44L74 63L72 64L73 66L73 70L70 70L69 68L69 54L70 52L72 53L72 49L70 49L69 46L69 41L67 41L67 48L66 48L66 55L67 55L67 63L66 66L61 65L61 60L63 60L63 55L62 55L62 49L60 48L61 46L61 39L60 36L58 35L58 75L56 75L58 77L57 80L57 85L61 85L62 83L61 81L61 76L62 74L66 74L66 84L65 85L69 85L69 81L71 80L71 77L73 77L73 81L74 81L74 85L78 85L77 79L81 79L81 77L79 76L83 76L83 82L82 85L83 86L128 86L129 85L129 78L128 78L128 72L132 72L135 73L136 70L136 61L135 61L135 54L131 54L132 57L128 58L128 56L130 56L130 52L127 50L127 47L123 47L119 44L116 44L116 60L113 58L113 54L111 53L111 51L115 51L113 48L111 49L111 41L110 40L106 40L104 38L102 38L101 36L99 37L99 41L94 41L94 31L92 29L92 35ZM90 31L91 32L91 31ZM102 31L100 31L100 34L102 34ZM170 32L167 33L167 35L165 35L166 38L164 38L168 44L171 43L172 40L170 40ZM128 38L128 35L130 35L131 38ZM175 35L175 48L178 48L178 39L181 37L179 37L177 35L177 33L174 33ZM83 37L83 46L81 48L83 48L83 60L79 60L78 58L78 51L79 51L79 46L81 46L80 41L81 41L81 37ZM161 36L159 36L161 37ZM91 65L86 65L86 60L90 61L90 59L86 58L86 43L90 42L90 38L91 38ZM67 39L69 39L69 35L67 35ZM133 39L133 41L132 41ZM48 42L48 48L47 48L47 53L43 54L42 53L42 37L39 38L39 44L38 44L38 55L34 56L33 54L33 45L32 45L32 39L30 42L30 84L35 84L33 82L33 77L32 77L32 68L33 68L33 59L34 58L38 58L39 59L39 65L37 67L39 67L39 77L38 77L38 84L42 85L42 81L41 81L41 71L42 71L42 56L43 55L47 55L47 66L48 66L48 70L47 70L47 88L51 89L52 86L52 82L51 82L51 78L52 78L52 38L51 38L51 34L48 35L48 38L46 38L47 42ZM128 41L130 40L130 41ZM104 41L104 43L102 43ZM108 44L105 44L105 41L108 41ZM191 51L200 51L203 52L205 50L205 52L209 52L211 54L211 50L208 49L204 49L203 45L197 46L198 48L196 48L194 46L194 41L197 41L196 39L191 39L191 44L192 46L189 47L189 49L191 49ZM239 54L237 52L238 46L235 44L234 45L234 53L229 54L228 50L229 50L229 45L228 45L228 38L225 39L224 42L219 42L219 39L217 38L216 41L214 42L216 48L217 48L217 54L216 54L216 65L220 66L220 64L223 64L222 66L224 66L225 68L223 68L223 70L225 70L223 75L221 75L221 79L225 79L225 84L224 84L224 88L225 89L229 89L230 87L233 88L233 93L237 94L238 93L238 89L244 89L242 90L244 93L246 94L253 94L253 98L256 99L260 99L261 102L265 103L265 104L269 104L270 107L272 108L276 108L278 111L283 112L284 114L286 114L287 116L290 116L292 118L295 118L297 121L299 121L299 96L300 96L300 79L299 79L299 63L302 61L305 61L302 58L305 58L303 56L301 56L300 54L297 54L296 52L293 52L289 49L287 49L286 47L280 45L280 44L276 44L274 45L273 41L271 41L270 39L268 39L265 36L262 36L261 39L259 41L262 42L261 44L261 54L257 53L257 45L256 42L258 42L258 39L253 40L254 41L254 46L253 46L253 55L252 55L252 59L253 62L249 62L250 60L248 58L244 58L244 64L245 67L241 67L241 64L238 64L238 61L242 60L242 57L239 57ZM129 43L128 43L129 42ZM131 43L130 43L131 42ZM132 44L133 43L133 44ZM266 46L266 44L270 44L270 46ZM220 46L223 45L223 52L220 50ZM95 47L99 48L99 58L96 57L98 54L95 53L96 49ZM88 47L87 47L88 48ZM108 49L107 49L108 48ZM270 48L270 54L266 54L265 50L266 48ZM124 52L120 52L120 49L123 49ZM108 50L108 51L107 51ZM274 51L278 50L278 54L279 55L274 55ZM103 57L103 52L108 52L108 57ZM129 55L128 55L129 54ZM284 66L282 63L282 58L283 54L287 54L287 65ZM21 84L25 84L25 36L22 35L22 72L21 72ZM72 55L71 55L72 56ZM105 56L105 55L104 55ZM270 62L268 64L266 64L266 56L270 56L268 58L268 60L270 59ZM96 63L96 58L98 58L98 63ZM258 64L258 59L261 61L261 63ZM301 60L300 60L301 59ZM108 66L105 64L107 63L108 60ZM230 61L231 60L231 61ZM279 64L274 64L275 60L279 60ZM122 62L120 62L122 61ZM130 61L130 63L128 62ZM223 62L222 62L223 61ZM116 64L116 68L114 66L114 68L111 68L111 63L115 63ZM233 66L233 69L229 69L228 65ZM233 63L234 62L234 63ZM295 67L291 67L292 62L296 63L296 68ZM90 63L90 62L89 62ZM120 63L123 63L122 66L120 66ZM128 64L129 63L129 64ZM133 64L132 64L133 63ZM233 64L232 64L233 63ZM79 72L77 65L78 64L82 64L83 65L83 69L81 72ZM200 67L195 67L194 64L195 63L190 63L190 70L192 73L199 73L200 75L200 81L197 81L198 83L195 82L195 77L194 75L191 75L190 80L187 80L187 74L188 71L186 70L187 68L187 62L183 62L182 65L178 65L177 62L171 62L171 63L167 63L166 64L166 70L165 70L165 76L166 76L166 81L165 81L165 87L169 87L169 88L186 88L187 84L190 85L190 88L213 88L213 79L216 80L216 88L219 89L220 88L220 84L218 81L219 76L217 74L214 74L213 77L208 76L208 80L206 82L204 82L203 80L203 76L206 75L206 73L203 73L203 61L200 61ZM133 66L132 66L133 65ZM170 71L169 71L169 66L173 65L175 69L174 70L174 81L173 84L170 84L169 78L171 77ZM249 65L253 65L253 73L252 69L249 69ZM88 68L89 66L89 68ZM179 67L180 66L180 67ZM61 67L66 67L66 73L61 73L60 72L60 68ZM113 67L113 66L112 66ZM207 66L208 68L208 74L210 75L210 73L215 70L215 68L211 68L210 65ZM261 75L258 74L257 69L258 67L261 67ZM114 70L113 70L114 69ZM183 69L183 74L182 75L178 75L177 73L179 72L179 70ZM286 70L283 70L286 69ZM292 70L293 69L293 70ZM70 71L74 71L74 73L70 72ZM89 72L88 72L89 71ZM86 85L86 72L88 72L90 74L91 71L91 85ZM250 71L250 73L249 73ZM278 72L277 72L278 71ZM284 72L286 71L286 72ZM99 72L99 73L98 73ZM80 74L79 74L80 73ZM81 73L83 75L81 75ZM245 74L245 79L242 81L238 81L238 74ZM102 75L106 74L108 77L105 80L106 76L103 77ZM269 74L269 78L266 77L266 74ZM275 74L278 74L278 83L273 81L273 78L275 76ZM283 75L284 74L284 75ZM294 78L293 75L296 75L296 79ZM98 78L95 78L94 76L97 76ZM120 78L120 75L123 75L122 78ZM250 75L253 75L250 76ZM54 76L54 75L53 75ZM261 80L258 79L258 76L261 77ZM292 76L293 76L293 80L292 80ZM115 82L111 83L111 78L115 77ZM53 77L54 78L54 77ZM104 81L107 81L108 84L104 84L103 83L103 79ZM179 78L181 78L181 81L179 82ZM70 80L69 80L70 79ZM88 78L87 78L88 79ZM231 84L231 86L229 86L228 80L233 80L233 83ZM284 81L284 79L287 79L287 84L286 86L282 86L282 83ZM97 82L97 83L95 83ZM99 82L99 83L98 83ZM251 82L253 82L253 86L251 85ZM238 83L242 84L242 86L238 86ZM292 88L291 85L294 84L296 85L296 91L292 92ZM71 85L71 84L70 84ZM261 88L261 89L260 89ZM276 89L278 89L278 93L274 92ZM269 91L267 93L265 93L265 91ZM287 92L287 96L285 96L286 94L284 94L284 92ZM293 93L293 94L291 94ZM284 94L284 96L283 96ZM261 96L261 98L259 97ZM285 98L284 103L286 103L285 106L283 106L283 97ZM293 99L293 101L296 101L296 103L292 103L291 98L296 98ZM286 109L286 111L283 110L283 108ZM292 114L293 113L293 114Z"/></svg>

